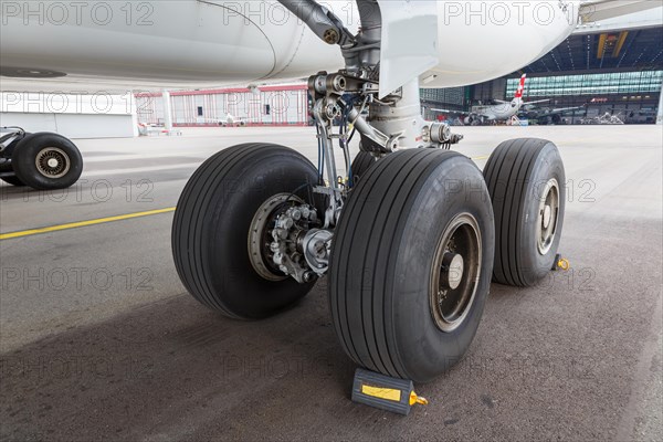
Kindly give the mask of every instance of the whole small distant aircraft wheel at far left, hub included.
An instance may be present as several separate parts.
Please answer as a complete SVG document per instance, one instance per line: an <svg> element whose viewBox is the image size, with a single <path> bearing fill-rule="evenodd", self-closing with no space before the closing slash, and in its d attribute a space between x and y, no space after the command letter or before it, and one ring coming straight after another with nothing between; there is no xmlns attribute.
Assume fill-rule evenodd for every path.
<svg viewBox="0 0 663 442"><path fill-rule="evenodd" d="M66 189L83 172L81 151L69 138L52 133L25 136L11 160L17 178L36 190Z"/></svg>

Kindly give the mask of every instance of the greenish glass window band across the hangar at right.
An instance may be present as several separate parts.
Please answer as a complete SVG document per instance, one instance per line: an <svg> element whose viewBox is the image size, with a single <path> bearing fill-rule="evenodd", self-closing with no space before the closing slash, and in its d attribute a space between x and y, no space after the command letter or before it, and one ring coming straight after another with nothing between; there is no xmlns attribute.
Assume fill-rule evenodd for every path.
<svg viewBox="0 0 663 442"><path fill-rule="evenodd" d="M506 96L513 97L519 78L508 78ZM661 92L663 71L559 75L527 78L526 97L565 95L646 94Z"/></svg>

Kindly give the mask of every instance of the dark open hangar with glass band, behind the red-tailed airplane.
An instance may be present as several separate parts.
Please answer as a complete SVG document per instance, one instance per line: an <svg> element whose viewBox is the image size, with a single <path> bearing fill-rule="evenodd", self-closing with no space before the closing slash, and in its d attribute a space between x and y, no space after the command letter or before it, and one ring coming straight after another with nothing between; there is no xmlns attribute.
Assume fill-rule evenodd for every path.
<svg viewBox="0 0 663 442"><path fill-rule="evenodd" d="M580 28L545 56L513 74L446 92L424 91L422 99L429 97L429 109L470 112L494 99L509 101L525 73L526 101L549 101L540 107L576 107L552 123L581 124L609 113L627 124L654 124L663 87L662 14L657 10L646 20L624 19Z"/></svg>

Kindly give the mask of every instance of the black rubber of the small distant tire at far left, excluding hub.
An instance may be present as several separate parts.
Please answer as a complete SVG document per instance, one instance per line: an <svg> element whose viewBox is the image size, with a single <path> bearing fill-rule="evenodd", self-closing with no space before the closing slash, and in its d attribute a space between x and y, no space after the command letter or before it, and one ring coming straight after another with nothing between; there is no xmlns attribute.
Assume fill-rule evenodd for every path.
<svg viewBox="0 0 663 442"><path fill-rule="evenodd" d="M39 152L49 147L61 149L69 157L70 169L63 177L49 178L36 168L35 159ZM25 136L17 145L11 162L17 177L25 186L38 190L66 189L72 187L83 172L83 157L76 145L62 135L46 131Z"/></svg>

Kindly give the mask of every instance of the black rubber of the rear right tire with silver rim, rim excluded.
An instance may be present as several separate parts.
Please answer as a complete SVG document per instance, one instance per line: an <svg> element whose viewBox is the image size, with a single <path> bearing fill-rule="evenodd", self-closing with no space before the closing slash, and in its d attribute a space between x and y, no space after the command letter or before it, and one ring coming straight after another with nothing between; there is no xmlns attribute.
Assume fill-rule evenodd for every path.
<svg viewBox="0 0 663 442"><path fill-rule="evenodd" d="M566 175L557 146L538 138L504 141L491 155L484 176L495 213L497 283L527 287L545 277L555 264L566 208ZM551 178L559 185L559 215L550 250L537 249L540 196Z"/></svg>

